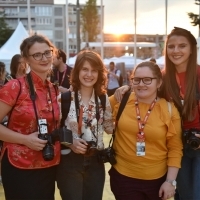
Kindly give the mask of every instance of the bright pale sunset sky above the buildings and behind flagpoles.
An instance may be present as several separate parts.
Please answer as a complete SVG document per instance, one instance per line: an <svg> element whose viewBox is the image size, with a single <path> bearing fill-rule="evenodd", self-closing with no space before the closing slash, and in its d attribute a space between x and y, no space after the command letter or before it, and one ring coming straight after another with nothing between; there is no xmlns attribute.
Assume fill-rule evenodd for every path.
<svg viewBox="0 0 200 200"><path fill-rule="evenodd" d="M55 0L65 3L66 0ZM134 28L134 0L102 0L104 5L104 33L126 34L135 33ZM86 0L79 0L84 4ZM76 4L76 0L68 0ZM97 5L101 0L97 0ZM166 32L165 0L136 0L136 33L160 34ZM195 0L168 0L167 33L174 26L188 29L198 37L198 26L192 26L188 12L199 14L200 7Z"/></svg>

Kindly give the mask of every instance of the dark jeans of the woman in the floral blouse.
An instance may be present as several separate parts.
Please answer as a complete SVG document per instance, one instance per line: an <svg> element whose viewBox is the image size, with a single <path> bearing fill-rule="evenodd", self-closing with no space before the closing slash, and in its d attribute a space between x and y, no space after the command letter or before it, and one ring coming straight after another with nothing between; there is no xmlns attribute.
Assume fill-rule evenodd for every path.
<svg viewBox="0 0 200 200"><path fill-rule="evenodd" d="M105 168L97 155L61 155L56 179L62 200L102 200Z"/></svg>

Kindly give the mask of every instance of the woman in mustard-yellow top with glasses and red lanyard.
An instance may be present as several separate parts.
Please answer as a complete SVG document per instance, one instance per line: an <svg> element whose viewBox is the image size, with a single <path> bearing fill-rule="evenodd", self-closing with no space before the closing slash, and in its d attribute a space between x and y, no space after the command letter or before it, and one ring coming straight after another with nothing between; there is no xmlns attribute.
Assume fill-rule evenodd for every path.
<svg viewBox="0 0 200 200"><path fill-rule="evenodd" d="M159 97L158 65L140 63L131 81L134 92L115 132L117 163L109 171L111 190L116 200L166 200L175 194L181 164L180 116L173 103ZM109 100L116 118L120 103L114 95Z"/></svg>

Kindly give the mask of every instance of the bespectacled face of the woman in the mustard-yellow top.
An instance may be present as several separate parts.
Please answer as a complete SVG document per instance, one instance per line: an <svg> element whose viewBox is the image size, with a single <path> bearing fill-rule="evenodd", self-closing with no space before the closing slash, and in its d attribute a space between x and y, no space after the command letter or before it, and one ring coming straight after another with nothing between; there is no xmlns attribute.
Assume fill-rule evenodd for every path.
<svg viewBox="0 0 200 200"><path fill-rule="evenodd" d="M134 73L134 78L151 77L157 78L149 67L138 67ZM138 85L133 85L138 101L150 104L157 97L157 89L161 86L161 80L152 79L151 84L146 85L140 81Z"/></svg>

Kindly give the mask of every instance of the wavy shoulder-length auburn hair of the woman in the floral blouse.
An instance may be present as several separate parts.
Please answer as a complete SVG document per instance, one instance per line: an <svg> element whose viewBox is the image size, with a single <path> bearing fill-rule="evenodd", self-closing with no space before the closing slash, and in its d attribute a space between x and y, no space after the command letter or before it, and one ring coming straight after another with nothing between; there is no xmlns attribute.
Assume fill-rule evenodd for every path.
<svg viewBox="0 0 200 200"><path fill-rule="evenodd" d="M70 75L70 82L73 90L77 92L80 89L79 72L85 61L88 61L93 68L98 70L98 79L94 84L94 90L97 95L100 96L101 94L105 94L107 87L107 69L99 54L90 50L83 50L77 55L74 68Z"/></svg>

